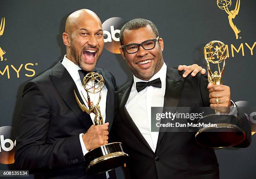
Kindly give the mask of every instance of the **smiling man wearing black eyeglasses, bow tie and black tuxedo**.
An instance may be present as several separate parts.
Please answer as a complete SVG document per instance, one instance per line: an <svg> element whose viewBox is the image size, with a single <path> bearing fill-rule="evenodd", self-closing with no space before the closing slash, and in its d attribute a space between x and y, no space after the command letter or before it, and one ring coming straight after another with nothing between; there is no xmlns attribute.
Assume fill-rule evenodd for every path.
<svg viewBox="0 0 256 179"><path fill-rule="evenodd" d="M131 178L219 178L214 150L196 144L195 133L150 130L151 106L229 107L230 88L208 85L206 76L182 78L181 72L167 66L162 56L164 40L149 20L129 21L119 38L133 80L116 92L118 112L111 132L120 137L130 156Z"/></svg>

